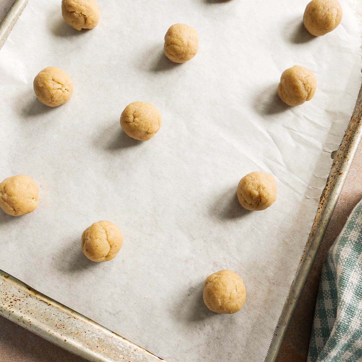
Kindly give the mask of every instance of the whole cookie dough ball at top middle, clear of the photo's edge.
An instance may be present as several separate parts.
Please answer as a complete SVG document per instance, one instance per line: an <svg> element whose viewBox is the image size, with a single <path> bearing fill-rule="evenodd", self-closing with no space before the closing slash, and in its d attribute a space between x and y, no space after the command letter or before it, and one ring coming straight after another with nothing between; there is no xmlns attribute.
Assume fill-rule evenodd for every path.
<svg viewBox="0 0 362 362"><path fill-rule="evenodd" d="M198 49L199 35L191 26L175 24L167 30L163 50L172 62L185 63L196 55Z"/></svg>

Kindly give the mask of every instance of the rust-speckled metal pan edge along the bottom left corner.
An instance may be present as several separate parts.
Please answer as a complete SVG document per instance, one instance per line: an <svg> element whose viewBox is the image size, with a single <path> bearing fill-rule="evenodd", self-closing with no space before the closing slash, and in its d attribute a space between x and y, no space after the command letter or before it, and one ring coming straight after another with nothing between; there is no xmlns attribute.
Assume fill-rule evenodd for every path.
<svg viewBox="0 0 362 362"><path fill-rule="evenodd" d="M0 315L88 361L163 361L2 270Z"/></svg>

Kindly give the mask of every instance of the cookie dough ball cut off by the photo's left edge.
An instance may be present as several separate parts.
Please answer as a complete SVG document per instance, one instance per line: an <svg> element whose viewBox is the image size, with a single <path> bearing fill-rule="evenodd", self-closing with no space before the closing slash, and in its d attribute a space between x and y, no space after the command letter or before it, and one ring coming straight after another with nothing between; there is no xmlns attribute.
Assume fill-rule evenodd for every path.
<svg viewBox="0 0 362 362"><path fill-rule="evenodd" d="M38 201L38 186L29 176L11 176L0 184L0 207L9 215L29 214Z"/></svg>

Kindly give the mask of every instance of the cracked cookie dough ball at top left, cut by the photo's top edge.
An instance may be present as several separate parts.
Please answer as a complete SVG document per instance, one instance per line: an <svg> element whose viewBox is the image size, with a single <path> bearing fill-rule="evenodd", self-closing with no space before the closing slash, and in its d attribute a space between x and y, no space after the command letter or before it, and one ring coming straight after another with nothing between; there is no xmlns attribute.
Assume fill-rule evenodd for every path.
<svg viewBox="0 0 362 362"><path fill-rule="evenodd" d="M62 0L62 15L74 29L93 29L99 21L96 0Z"/></svg>

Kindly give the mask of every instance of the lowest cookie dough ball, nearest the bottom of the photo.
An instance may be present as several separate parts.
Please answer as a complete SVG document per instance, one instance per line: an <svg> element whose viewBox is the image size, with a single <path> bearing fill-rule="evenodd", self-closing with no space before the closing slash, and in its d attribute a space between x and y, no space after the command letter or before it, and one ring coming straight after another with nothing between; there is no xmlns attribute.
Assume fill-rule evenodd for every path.
<svg viewBox="0 0 362 362"><path fill-rule="evenodd" d="M247 294L243 280L231 270L220 270L206 278L203 300L215 313L236 313L241 309Z"/></svg>

